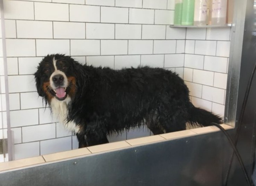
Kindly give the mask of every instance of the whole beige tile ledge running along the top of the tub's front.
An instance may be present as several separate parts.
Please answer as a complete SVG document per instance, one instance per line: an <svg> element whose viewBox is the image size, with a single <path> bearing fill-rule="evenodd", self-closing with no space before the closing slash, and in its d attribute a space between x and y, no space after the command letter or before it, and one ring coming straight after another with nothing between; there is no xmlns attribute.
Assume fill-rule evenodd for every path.
<svg viewBox="0 0 256 186"><path fill-rule="evenodd" d="M221 126L226 130L234 128L227 124L221 124ZM130 139L130 140L126 140L126 141L106 143L106 144L91 146L91 147L87 147L87 148L81 148L81 149L75 149L75 150L70 150L70 151L65 151L65 152L58 152L58 153L49 154L49 155L43 155L43 156L39 156L39 157L8 161L8 162L0 163L0 172L7 171L10 169L16 169L16 168L21 168L21 167L26 167L26 166L33 166L33 165L37 165L37 164L53 162L53 161L65 161L65 160L73 158L73 157L87 156L87 155L90 156L97 152L105 152L105 151L118 150L118 149L123 149L123 148L131 148L131 147L137 146L137 145L147 145L150 143L163 142L165 140L172 140L172 139L177 139L177 138L182 138L182 137L195 136L195 135L200 135L203 133L216 132L219 130L220 129L218 129L217 127L214 127L214 126L196 128L196 129L190 129L190 130L184 130L184 131L178 131L178 132L165 133L165 134L161 134L161 135Z"/></svg>

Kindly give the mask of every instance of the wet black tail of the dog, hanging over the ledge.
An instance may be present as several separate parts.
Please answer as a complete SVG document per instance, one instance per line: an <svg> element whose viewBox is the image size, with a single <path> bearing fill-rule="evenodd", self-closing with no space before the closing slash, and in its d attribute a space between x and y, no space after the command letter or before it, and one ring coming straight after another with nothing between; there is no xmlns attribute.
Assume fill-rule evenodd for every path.
<svg viewBox="0 0 256 186"><path fill-rule="evenodd" d="M219 115L215 115L204 109L197 108L193 104L191 104L189 115L188 122L191 125L206 127L212 125L211 123L222 123L222 119Z"/></svg>

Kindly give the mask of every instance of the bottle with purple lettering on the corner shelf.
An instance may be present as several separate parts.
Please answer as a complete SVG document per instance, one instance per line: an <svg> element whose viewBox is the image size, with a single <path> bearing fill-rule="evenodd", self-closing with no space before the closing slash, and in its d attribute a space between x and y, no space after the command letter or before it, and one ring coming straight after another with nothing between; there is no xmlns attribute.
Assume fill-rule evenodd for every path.
<svg viewBox="0 0 256 186"><path fill-rule="evenodd" d="M227 17L227 0L212 0L212 25L225 25Z"/></svg>

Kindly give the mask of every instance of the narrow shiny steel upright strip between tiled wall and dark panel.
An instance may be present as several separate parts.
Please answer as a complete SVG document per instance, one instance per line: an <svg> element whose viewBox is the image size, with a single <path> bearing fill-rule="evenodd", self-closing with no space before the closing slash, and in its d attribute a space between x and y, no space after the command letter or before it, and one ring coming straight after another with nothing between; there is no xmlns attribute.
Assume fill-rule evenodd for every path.
<svg viewBox="0 0 256 186"><path fill-rule="evenodd" d="M235 0L224 122L235 126L247 0Z"/></svg>

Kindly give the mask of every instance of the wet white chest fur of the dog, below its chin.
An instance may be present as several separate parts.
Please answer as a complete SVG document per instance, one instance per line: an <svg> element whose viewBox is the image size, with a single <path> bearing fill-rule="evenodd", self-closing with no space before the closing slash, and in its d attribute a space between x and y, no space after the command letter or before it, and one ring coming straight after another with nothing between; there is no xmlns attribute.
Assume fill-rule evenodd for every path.
<svg viewBox="0 0 256 186"><path fill-rule="evenodd" d="M75 133L78 133L80 127L77 126L73 121L67 122L68 104L70 101L71 99L69 96L67 96L64 101L59 101L54 97L51 100L52 114L59 120L60 123L64 125L65 128Z"/></svg>

